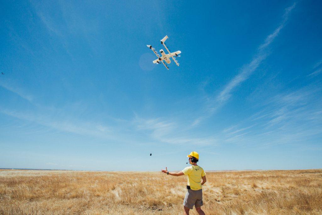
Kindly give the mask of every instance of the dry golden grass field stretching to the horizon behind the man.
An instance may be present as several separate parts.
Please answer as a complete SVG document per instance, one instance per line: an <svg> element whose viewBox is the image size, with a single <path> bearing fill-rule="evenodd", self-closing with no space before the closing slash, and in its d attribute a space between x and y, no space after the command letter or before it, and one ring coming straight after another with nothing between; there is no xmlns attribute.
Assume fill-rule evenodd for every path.
<svg viewBox="0 0 322 215"><path fill-rule="evenodd" d="M0 214L182 214L185 185L161 172L0 170ZM206 214L322 214L322 170L207 172L203 195Z"/></svg>

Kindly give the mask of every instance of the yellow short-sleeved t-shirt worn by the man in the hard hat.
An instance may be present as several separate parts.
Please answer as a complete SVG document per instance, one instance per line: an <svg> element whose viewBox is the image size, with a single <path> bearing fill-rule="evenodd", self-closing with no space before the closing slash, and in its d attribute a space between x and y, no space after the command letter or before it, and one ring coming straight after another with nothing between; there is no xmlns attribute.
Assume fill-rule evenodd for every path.
<svg viewBox="0 0 322 215"><path fill-rule="evenodd" d="M196 191L201 189L201 177L206 175L203 168L191 165L183 169L182 172L188 176L188 185L191 190Z"/></svg>

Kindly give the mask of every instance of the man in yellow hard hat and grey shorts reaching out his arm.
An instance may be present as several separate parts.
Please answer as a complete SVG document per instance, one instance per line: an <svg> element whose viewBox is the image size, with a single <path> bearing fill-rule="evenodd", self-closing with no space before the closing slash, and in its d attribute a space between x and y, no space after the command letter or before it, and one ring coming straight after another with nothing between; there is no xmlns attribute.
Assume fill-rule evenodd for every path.
<svg viewBox="0 0 322 215"><path fill-rule="evenodd" d="M186 167L183 171L169 172L167 168L161 171L173 176L188 176L187 193L185 194L185 200L183 201L185 207L184 215L189 215L189 210L192 210L193 207L195 207L198 214L204 215L205 213L201 210L201 206L204 204L202 201L202 185L207 181L206 173L203 168L197 165L197 162L199 161L199 154L197 152L192 151L187 157L189 158L191 166Z"/></svg>

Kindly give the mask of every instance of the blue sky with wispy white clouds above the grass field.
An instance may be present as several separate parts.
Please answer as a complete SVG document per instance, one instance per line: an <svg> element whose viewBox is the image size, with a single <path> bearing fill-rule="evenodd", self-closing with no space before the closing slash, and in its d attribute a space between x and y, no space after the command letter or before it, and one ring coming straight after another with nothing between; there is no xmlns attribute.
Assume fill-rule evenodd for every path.
<svg viewBox="0 0 322 215"><path fill-rule="evenodd" d="M0 167L322 168L321 6L2 2Z"/></svg>

